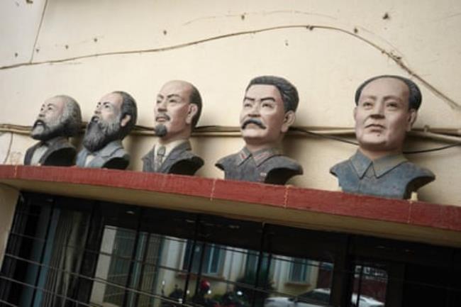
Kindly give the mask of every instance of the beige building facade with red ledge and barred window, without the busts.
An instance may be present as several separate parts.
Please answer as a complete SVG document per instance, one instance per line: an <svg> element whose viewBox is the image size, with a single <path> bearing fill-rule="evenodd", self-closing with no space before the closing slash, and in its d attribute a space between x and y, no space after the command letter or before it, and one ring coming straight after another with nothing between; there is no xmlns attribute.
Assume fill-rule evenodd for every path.
<svg viewBox="0 0 461 307"><path fill-rule="evenodd" d="M460 306L460 10L448 0L4 1L0 306ZM304 174L287 186L226 181L214 166L243 147L245 87L263 74L299 90L282 149ZM329 174L357 149L353 94L377 74L423 92L404 150L436 180L418 200L345 194ZM140 172L157 141L155 97L173 79L204 101L196 177ZM128 170L21 165L45 99L74 97L88 122L114 90L138 104Z"/></svg>

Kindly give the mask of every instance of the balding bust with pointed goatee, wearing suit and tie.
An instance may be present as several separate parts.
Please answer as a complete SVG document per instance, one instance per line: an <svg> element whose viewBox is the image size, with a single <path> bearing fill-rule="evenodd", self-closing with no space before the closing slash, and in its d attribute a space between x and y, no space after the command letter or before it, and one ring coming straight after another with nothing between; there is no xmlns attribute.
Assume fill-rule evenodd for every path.
<svg viewBox="0 0 461 307"><path fill-rule="evenodd" d="M189 82L167 82L154 108L158 143L143 157L143 172L193 175L204 160L191 152L189 137L201 113L201 96Z"/></svg>

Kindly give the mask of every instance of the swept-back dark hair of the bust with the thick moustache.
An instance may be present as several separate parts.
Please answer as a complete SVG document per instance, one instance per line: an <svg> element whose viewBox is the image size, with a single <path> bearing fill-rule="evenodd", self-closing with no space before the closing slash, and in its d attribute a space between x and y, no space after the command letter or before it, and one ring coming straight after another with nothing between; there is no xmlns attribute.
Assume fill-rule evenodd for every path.
<svg viewBox="0 0 461 307"><path fill-rule="evenodd" d="M288 111L296 111L296 108L298 108L298 90L287 79L276 76L256 77L250 81L250 84L248 84L247 89L245 91L248 91L248 89L250 89L250 86L257 84L273 85L277 87L277 89L280 92L280 96L282 96L285 113L287 113Z"/></svg>

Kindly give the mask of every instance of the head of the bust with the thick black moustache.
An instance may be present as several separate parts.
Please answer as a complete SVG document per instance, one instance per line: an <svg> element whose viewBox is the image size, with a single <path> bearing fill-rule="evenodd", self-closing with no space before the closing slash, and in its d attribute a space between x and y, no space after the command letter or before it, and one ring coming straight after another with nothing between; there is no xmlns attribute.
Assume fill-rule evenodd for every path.
<svg viewBox="0 0 461 307"><path fill-rule="evenodd" d="M294 123L299 96L287 79L274 76L250 81L240 112L240 130L250 151L276 147Z"/></svg>

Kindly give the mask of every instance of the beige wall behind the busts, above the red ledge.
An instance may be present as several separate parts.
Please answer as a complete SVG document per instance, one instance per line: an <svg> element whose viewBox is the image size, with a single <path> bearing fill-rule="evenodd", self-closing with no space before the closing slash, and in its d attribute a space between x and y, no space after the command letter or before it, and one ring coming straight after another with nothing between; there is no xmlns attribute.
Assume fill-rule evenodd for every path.
<svg viewBox="0 0 461 307"><path fill-rule="evenodd" d="M157 90L170 79L185 79L204 99L199 125L236 126L248 81L276 74L299 89L296 125L352 128L357 85L375 74L409 77L404 65L427 82L412 77L423 91L416 128L461 128L460 108L453 106L461 104L460 1L48 0L40 26L44 7L45 0L1 1L0 123L30 125L42 101L55 94L74 96L87 121L97 99L121 89L138 101L138 124L152 127ZM212 39L221 35L229 36ZM167 50L91 56L158 48ZM45 63L5 67L30 60ZM150 136L126 140L130 169L140 170L140 157L154 142ZM0 135L0 162L21 162L32 143L22 135L12 141L10 133ZM408 147L447 144L412 138ZM221 178L214 162L243 142L200 135L193 145L206 160L199 175ZM305 171L292 184L334 190L328 169L355 147L289 135L284 150ZM438 177L421 189L420 199L461 206L460 157L460 147L409 156Z"/></svg>

